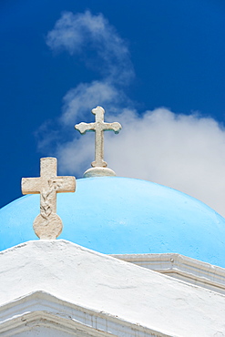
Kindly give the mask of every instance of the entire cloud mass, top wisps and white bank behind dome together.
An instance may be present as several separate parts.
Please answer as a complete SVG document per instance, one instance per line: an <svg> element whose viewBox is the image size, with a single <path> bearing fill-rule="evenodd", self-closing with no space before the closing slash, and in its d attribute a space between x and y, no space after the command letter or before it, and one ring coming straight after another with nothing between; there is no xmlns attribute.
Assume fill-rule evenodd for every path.
<svg viewBox="0 0 225 337"><path fill-rule="evenodd" d="M86 65L95 67L101 77L66 93L57 130L42 127L39 148L54 148L60 170L81 177L90 167L94 134L80 137L73 126L91 121L90 110L100 105L108 122L117 120L123 126L119 135L105 135L105 159L118 176L179 189L225 216L225 130L217 121L167 108L138 113L124 90L134 77L128 46L103 15L66 12L46 43L54 51L84 56ZM62 137L65 133L67 138Z"/></svg>

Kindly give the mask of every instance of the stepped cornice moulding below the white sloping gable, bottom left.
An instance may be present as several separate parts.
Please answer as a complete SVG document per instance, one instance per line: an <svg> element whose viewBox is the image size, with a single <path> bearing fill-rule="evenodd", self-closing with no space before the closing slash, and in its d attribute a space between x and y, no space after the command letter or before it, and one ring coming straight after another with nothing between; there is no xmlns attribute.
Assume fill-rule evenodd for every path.
<svg viewBox="0 0 225 337"><path fill-rule="evenodd" d="M38 335L46 329L56 332L56 336L79 337L95 336L123 336L123 337L168 337L164 333L156 332L129 323L112 316L104 311L91 311L79 307L44 292L36 291L16 301L0 307L0 335L23 336ZM48 335L47 335L48 336Z"/></svg>

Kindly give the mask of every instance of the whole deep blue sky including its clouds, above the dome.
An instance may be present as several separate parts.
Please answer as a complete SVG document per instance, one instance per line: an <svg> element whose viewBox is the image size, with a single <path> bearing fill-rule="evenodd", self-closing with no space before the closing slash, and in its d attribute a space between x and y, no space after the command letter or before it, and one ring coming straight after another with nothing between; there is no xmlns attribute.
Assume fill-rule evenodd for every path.
<svg viewBox="0 0 225 337"><path fill-rule="evenodd" d="M74 126L102 106L109 168L225 216L223 0L1 0L0 32L0 207L42 157L82 178L94 133Z"/></svg>

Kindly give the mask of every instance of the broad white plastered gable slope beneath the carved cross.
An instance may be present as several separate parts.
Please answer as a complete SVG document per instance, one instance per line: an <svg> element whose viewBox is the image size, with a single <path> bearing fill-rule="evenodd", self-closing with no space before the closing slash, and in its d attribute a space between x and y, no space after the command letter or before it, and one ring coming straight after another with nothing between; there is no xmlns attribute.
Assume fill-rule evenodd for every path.
<svg viewBox="0 0 225 337"><path fill-rule="evenodd" d="M225 336L224 295L65 240L29 241L2 251L0 284L0 306L46 291L169 336Z"/></svg>

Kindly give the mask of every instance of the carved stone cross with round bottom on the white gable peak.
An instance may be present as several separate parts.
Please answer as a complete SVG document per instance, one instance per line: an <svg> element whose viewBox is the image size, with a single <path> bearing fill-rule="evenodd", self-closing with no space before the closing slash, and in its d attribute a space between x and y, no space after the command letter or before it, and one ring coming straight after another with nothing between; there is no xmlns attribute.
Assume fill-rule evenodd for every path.
<svg viewBox="0 0 225 337"><path fill-rule="evenodd" d="M75 192L75 177L57 176L57 159L41 158L41 173L38 178L23 178L22 193L40 193L40 214L33 228L40 239L56 239L62 232L63 224L56 214L56 193Z"/></svg>

